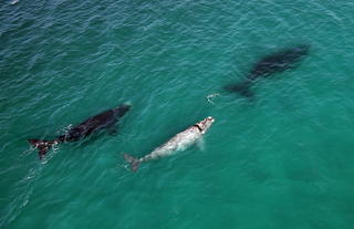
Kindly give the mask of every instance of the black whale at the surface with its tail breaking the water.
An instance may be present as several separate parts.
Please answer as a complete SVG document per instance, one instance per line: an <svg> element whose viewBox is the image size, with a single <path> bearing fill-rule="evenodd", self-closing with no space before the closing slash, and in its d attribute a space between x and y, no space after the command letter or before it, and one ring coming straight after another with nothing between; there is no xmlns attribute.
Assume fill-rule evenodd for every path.
<svg viewBox="0 0 354 229"><path fill-rule="evenodd" d="M81 124L70 128L65 134L58 136L53 140L44 139L28 139L28 142L39 149L39 156L42 159L46 152L56 144L65 142L76 142L87 137L92 133L100 129L113 127L118 122L119 117L123 117L131 108L131 105L123 104L116 108L112 108L102 112L95 116L87 118Z"/></svg>

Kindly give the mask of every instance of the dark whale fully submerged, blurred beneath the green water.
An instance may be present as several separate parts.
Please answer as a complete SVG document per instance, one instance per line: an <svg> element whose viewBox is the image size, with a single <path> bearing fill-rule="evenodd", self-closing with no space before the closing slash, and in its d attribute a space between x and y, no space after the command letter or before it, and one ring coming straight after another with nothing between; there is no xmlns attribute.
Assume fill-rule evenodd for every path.
<svg viewBox="0 0 354 229"><path fill-rule="evenodd" d="M252 97L253 93L250 89L260 77L268 77L296 67L302 58L309 53L309 49L310 45L302 44L267 55L253 65L246 80L237 84L226 85L223 89Z"/></svg>

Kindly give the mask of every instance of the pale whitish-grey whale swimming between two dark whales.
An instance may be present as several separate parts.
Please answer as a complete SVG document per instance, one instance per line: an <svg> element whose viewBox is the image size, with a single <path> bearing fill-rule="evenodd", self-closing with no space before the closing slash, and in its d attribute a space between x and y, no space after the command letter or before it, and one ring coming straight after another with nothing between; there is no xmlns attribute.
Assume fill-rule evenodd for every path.
<svg viewBox="0 0 354 229"><path fill-rule="evenodd" d="M177 134L167 143L155 148L150 154L144 157L135 158L128 154L124 154L124 158L131 164L132 170L136 171L139 165L144 162L157 159L159 157L165 157L171 155L177 150L186 149L188 146L200 139L214 122L215 119L209 116L200 121L199 123L196 123L195 125L188 127L186 131Z"/></svg>

